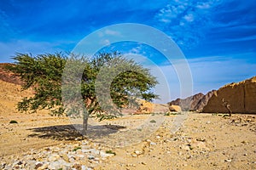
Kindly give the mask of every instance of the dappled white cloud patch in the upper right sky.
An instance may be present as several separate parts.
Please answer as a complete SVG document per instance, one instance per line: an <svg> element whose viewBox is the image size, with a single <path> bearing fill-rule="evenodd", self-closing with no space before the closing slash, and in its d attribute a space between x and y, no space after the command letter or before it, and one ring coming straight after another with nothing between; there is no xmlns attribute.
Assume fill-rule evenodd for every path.
<svg viewBox="0 0 256 170"><path fill-rule="evenodd" d="M211 31L212 8L218 0L198 2L195 0L171 1L155 15L162 31L183 48L193 48ZM211 8L211 10L210 10Z"/></svg>

